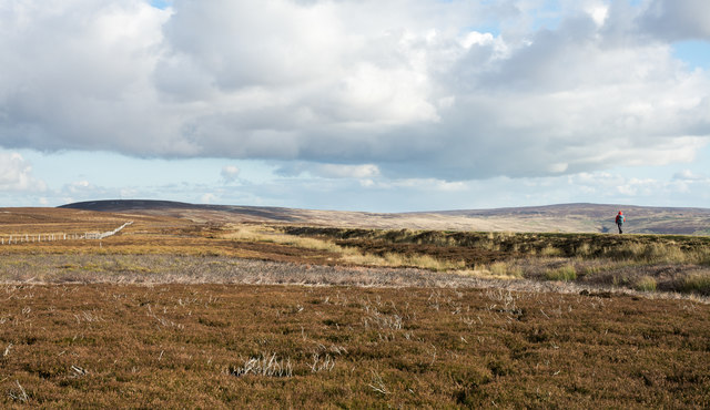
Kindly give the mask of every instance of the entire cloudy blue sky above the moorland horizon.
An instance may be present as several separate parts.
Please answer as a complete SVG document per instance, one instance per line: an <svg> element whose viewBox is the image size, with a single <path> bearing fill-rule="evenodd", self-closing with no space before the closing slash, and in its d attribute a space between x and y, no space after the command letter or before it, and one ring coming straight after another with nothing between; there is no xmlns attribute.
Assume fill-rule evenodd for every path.
<svg viewBox="0 0 710 410"><path fill-rule="evenodd" d="M710 207L707 0L0 0L0 206Z"/></svg>

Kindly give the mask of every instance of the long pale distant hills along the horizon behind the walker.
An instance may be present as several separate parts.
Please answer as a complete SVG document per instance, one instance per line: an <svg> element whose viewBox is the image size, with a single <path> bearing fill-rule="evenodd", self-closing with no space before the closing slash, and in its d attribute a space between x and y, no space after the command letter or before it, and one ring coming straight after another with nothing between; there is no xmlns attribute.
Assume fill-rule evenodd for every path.
<svg viewBox="0 0 710 410"><path fill-rule="evenodd" d="M710 209L605 204L562 204L497 209L416 213L313 211L264 206L197 205L170 201L113 199L60 206L85 211L175 216L200 223L287 223L367 228L484 232L615 232L618 211L629 234L710 235Z"/></svg>

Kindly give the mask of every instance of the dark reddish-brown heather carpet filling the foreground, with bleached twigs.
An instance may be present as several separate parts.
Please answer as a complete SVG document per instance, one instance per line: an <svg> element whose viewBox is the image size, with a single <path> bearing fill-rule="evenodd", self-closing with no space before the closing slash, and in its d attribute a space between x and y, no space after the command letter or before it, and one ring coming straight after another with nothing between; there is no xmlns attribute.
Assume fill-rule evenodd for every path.
<svg viewBox="0 0 710 410"><path fill-rule="evenodd" d="M0 286L0 406L707 408L710 307L501 289Z"/></svg>

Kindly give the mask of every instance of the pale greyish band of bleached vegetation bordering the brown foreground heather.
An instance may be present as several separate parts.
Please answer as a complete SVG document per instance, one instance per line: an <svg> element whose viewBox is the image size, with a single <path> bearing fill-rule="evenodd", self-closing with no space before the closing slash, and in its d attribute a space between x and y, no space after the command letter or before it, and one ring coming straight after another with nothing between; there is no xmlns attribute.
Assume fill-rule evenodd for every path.
<svg viewBox="0 0 710 410"><path fill-rule="evenodd" d="M78 268L67 269L62 265ZM11 268L8 268L11 266ZM93 270L81 266L131 266L130 270ZM706 275L699 276L706 278ZM515 280L511 280L515 279ZM701 286L707 279L700 279ZM355 286L381 288L480 288L527 293L605 291L650 298L691 299L709 303L697 294L667 291L641 293L607 285L540 281L511 276L494 276L490 270L469 269L434 273L415 268L344 267L297 265L224 256L166 255L4 255L0 265L0 291L34 285L124 284L155 286L163 284L244 284L298 286ZM693 281L696 284L696 281ZM697 285L693 285L697 286ZM148 310L146 310L148 311ZM150 311L148 311L150 314ZM3 318L0 318L2 321Z"/></svg>

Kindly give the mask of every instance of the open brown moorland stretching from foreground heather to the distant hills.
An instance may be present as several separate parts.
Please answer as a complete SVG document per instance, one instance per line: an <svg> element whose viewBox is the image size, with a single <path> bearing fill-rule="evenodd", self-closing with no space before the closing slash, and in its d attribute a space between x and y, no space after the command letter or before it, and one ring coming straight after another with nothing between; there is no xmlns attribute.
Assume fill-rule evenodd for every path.
<svg viewBox="0 0 710 410"><path fill-rule="evenodd" d="M702 209L616 235L178 205L0 209L1 406L710 406ZM464 228L516 212L574 223Z"/></svg>

